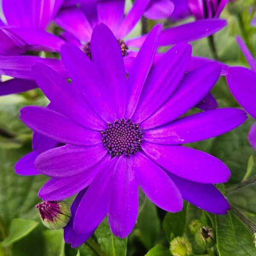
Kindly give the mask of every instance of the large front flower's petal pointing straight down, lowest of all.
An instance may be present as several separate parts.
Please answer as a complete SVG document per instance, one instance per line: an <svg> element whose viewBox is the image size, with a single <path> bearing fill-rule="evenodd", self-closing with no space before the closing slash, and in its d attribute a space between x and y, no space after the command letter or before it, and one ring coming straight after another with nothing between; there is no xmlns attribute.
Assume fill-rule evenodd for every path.
<svg viewBox="0 0 256 256"><path fill-rule="evenodd" d="M124 238L134 228L139 205L138 183L128 157L119 157L113 174L108 221L115 236Z"/></svg>

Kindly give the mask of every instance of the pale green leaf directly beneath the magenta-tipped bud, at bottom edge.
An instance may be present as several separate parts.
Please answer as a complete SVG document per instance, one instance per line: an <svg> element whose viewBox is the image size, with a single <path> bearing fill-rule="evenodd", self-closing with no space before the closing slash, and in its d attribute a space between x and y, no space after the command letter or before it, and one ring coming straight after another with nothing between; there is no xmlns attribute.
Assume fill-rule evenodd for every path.
<svg viewBox="0 0 256 256"><path fill-rule="evenodd" d="M46 230L43 233L45 240L45 256L65 256L63 230Z"/></svg>

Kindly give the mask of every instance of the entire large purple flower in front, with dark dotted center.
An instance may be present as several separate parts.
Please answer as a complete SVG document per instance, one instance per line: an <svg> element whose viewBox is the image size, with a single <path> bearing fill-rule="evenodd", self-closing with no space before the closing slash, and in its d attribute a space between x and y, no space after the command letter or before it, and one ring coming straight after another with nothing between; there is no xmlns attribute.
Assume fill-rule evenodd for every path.
<svg viewBox="0 0 256 256"><path fill-rule="evenodd" d="M38 193L43 200L79 192L64 229L72 247L87 240L107 214L113 234L128 236L137 218L139 186L169 212L180 211L183 199L216 214L229 209L213 185L227 181L227 166L180 144L230 131L246 114L224 108L178 119L211 90L221 68L208 63L185 74L191 58L186 43L169 49L152 67L161 29L151 30L128 78L116 37L104 24L93 30L92 60L72 44L61 48L71 84L44 64L32 67L56 111L28 106L20 119L66 144L41 153L35 168L51 177Z"/></svg>

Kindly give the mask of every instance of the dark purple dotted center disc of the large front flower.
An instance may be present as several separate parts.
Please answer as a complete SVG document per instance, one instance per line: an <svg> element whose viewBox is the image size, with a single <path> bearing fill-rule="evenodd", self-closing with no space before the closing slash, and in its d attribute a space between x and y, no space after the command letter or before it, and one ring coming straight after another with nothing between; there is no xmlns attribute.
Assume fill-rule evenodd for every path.
<svg viewBox="0 0 256 256"><path fill-rule="evenodd" d="M131 122L130 119L120 119L108 123L108 128L101 133L102 142L111 157L134 154L141 149L143 129L138 124Z"/></svg>

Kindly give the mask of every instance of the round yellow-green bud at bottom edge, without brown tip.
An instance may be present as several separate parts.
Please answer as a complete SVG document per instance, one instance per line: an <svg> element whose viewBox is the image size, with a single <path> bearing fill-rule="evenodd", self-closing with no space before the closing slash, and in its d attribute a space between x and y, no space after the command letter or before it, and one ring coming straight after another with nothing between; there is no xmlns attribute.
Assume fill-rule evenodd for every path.
<svg viewBox="0 0 256 256"><path fill-rule="evenodd" d="M192 253L192 245L185 237L177 236L170 242L170 251L173 256L189 256Z"/></svg>

